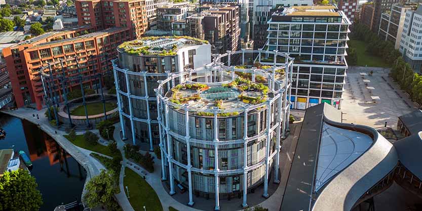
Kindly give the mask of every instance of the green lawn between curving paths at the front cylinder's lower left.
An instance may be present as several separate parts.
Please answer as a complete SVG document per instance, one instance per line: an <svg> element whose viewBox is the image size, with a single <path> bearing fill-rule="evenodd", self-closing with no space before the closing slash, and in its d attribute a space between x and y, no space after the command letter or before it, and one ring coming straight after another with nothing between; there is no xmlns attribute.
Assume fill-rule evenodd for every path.
<svg viewBox="0 0 422 211"><path fill-rule="evenodd" d="M129 202L133 209L143 210L143 206L145 206L148 211L163 210L157 193L143 178L128 167L125 168L125 175L123 184L125 187L128 186Z"/></svg>

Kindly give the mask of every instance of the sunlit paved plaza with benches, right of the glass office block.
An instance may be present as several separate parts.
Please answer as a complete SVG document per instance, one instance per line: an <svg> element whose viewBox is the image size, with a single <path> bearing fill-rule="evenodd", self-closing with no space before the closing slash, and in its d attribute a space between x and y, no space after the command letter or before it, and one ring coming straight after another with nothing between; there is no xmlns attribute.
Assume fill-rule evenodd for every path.
<svg viewBox="0 0 422 211"><path fill-rule="evenodd" d="M372 76L369 75L371 70ZM388 73L385 68L348 69L341 104L343 122L379 129L387 121L388 127L396 129L398 117L416 109Z"/></svg>

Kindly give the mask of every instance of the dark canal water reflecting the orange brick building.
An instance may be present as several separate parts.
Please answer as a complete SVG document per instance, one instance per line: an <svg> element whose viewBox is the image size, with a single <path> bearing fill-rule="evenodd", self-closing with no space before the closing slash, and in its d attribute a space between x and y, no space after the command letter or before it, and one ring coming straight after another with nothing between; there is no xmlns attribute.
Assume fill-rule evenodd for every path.
<svg viewBox="0 0 422 211"><path fill-rule="evenodd" d="M32 161L30 172L43 194L41 211L53 211L61 203L81 199L86 172L49 135L27 120L2 113L0 128L6 131L0 149L23 150Z"/></svg>

